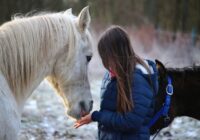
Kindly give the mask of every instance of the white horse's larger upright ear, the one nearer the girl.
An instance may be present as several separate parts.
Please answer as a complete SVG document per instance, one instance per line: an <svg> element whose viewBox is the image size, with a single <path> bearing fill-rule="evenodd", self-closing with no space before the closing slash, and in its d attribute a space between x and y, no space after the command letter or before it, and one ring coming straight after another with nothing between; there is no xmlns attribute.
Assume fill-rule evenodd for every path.
<svg viewBox="0 0 200 140"><path fill-rule="evenodd" d="M90 24L90 12L89 12L89 6L83 8L78 16L78 26L81 31L85 31L86 28L88 28Z"/></svg>

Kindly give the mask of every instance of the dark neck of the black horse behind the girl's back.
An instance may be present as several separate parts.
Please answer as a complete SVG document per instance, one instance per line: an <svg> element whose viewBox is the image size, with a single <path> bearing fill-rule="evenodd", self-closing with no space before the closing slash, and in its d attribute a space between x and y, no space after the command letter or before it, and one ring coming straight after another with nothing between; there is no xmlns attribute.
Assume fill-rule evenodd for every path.
<svg viewBox="0 0 200 140"><path fill-rule="evenodd" d="M196 111L200 105L200 67L170 68L167 71L173 78L172 109L174 116L189 116L200 120L200 113Z"/></svg>

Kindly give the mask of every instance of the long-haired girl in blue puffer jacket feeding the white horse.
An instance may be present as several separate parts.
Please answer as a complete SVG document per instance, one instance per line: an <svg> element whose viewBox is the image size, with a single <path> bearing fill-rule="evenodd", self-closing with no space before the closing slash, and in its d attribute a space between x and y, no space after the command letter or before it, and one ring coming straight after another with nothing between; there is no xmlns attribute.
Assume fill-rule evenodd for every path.
<svg viewBox="0 0 200 140"><path fill-rule="evenodd" d="M98 122L100 140L149 140L158 90L155 63L139 58L127 33L114 26L104 32L98 51L106 72L99 111L82 117L75 128Z"/></svg>

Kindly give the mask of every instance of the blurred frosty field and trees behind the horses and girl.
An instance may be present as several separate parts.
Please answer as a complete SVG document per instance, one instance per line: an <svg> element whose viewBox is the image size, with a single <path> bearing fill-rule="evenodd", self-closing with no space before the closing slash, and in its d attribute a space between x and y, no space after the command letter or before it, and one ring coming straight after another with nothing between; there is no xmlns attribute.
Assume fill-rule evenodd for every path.
<svg viewBox="0 0 200 140"><path fill-rule="evenodd" d="M94 39L94 57L89 65L89 79L94 109L99 106L99 89L104 73L96 51L101 33L111 25L120 25L130 35L133 48L143 58L159 59L167 67L188 67L200 62L199 0L0 0L0 24L13 15L41 11L58 12L72 8L77 15L89 5ZM60 98L44 81L27 102L20 140L97 139L95 123L78 130L64 113ZM157 140L198 140L200 122L179 117Z"/></svg>

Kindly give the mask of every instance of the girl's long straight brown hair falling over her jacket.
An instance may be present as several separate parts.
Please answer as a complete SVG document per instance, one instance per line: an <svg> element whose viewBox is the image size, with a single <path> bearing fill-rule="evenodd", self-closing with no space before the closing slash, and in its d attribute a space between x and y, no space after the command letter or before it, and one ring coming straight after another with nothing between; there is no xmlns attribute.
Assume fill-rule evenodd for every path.
<svg viewBox="0 0 200 140"><path fill-rule="evenodd" d="M131 111L134 107L131 94L134 68L136 63L147 66L136 56L127 33L119 26L112 26L103 33L98 51L104 67L116 75L117 111Z"/></svg>

